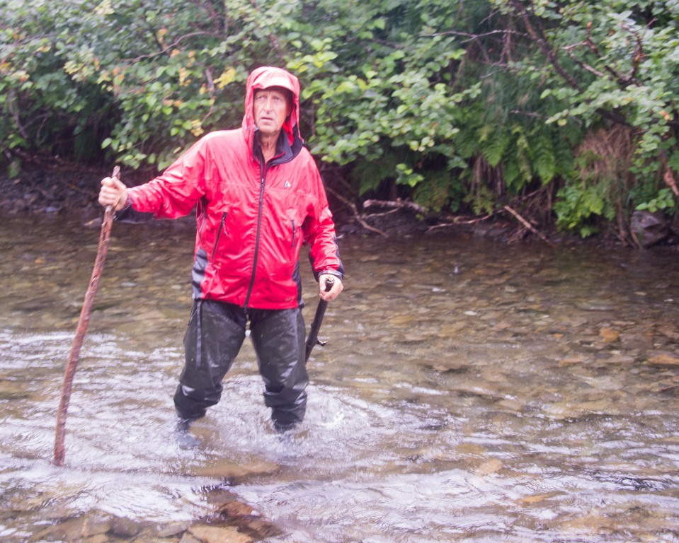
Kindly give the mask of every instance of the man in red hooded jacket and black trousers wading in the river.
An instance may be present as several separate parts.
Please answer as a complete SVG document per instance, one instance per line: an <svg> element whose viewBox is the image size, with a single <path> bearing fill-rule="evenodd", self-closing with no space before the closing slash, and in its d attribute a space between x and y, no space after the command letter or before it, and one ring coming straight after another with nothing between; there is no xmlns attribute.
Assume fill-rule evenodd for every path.
<svg viewBox="0 0 679 543"><path fill-rule="evenodd" d="M101 181L99 203L116 219L177 218L196 207L193 309L174 395L183 424L217 404L246 335L276 431L304 418L308 375L299 250L308 243L320 297L342 291L344 269L326 193L299 135L299 81L273 67L246 84L241 127L203 136L154 180L127 189ZM330 291L326 279L335 279Z"/></svg>

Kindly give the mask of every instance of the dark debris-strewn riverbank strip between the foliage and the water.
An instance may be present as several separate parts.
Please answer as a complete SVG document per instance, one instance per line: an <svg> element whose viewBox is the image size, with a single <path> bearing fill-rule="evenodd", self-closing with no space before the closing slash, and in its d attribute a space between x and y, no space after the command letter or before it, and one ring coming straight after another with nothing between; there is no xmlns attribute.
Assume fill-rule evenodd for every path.
<svg viewBox="0 0 679 543"><path fill-rule="evenodd" d="M0 213L2 214L77 214L84 223L101 218L97 202L100 182L110 171L72 163L35 162L16 177L0 172ZM130 187L153 177L154 172L125 171L123 181ZM595 243L622 246L615 235L598 235L583 240L576 235L560 233L549 226L533 226L518 214L501 211L489 218L428 215L425 219L417 206L408 203L383 202L356 214L344 202L329 194L338 235L377 235L407 237L431 235L474 235L498 243ZM677 236L662 245L675 245Z"/></svg>

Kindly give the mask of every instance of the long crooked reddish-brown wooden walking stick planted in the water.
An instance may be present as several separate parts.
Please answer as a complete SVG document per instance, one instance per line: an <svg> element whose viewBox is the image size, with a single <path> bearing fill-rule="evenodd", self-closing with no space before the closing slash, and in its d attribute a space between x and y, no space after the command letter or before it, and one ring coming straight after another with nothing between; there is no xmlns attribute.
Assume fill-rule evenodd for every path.
<svg viewBox="0 0 679 543"><path fill-rule="evenodd" d="M113 168L113 175L111 177L118 177L120 175L120 167ZM94 269L90 279L89 287L85 293L85 300L80 311L80 318L78 326L76 327L76 334L71 344L71 354L69 354L69 361L64 371L64 384L62 385L62 397L59 402L59 409L57 411L57 432L55 436L55 464L57 466L64 465L64 455L66 449L64 448L64 434L66 433L66 412L69 409L69 402L71 400L71 389L73 387L73 377L76 373L76 366L78 366L78 357L80 349L83 346L83 339L87 331L87 325L92 313L92 305L99 286L99 278L103 271L104 262L106 261L106 252L108 251L108 240L110 239L110 229L113 225L113 215L115 214L115 202L112 206L107 206L104 213L103 222L101 223L101 234L99 235L99 246L97 248L97 255L94 261Z"/></svg>

